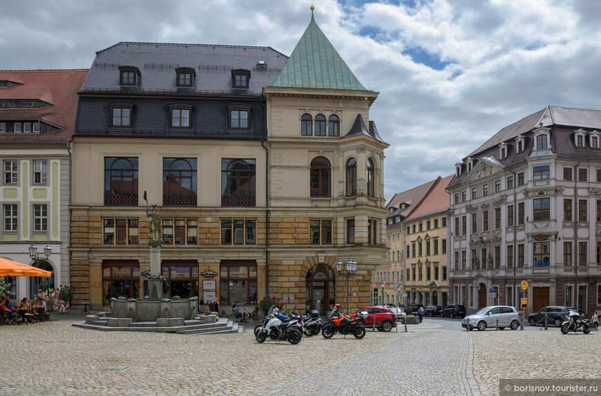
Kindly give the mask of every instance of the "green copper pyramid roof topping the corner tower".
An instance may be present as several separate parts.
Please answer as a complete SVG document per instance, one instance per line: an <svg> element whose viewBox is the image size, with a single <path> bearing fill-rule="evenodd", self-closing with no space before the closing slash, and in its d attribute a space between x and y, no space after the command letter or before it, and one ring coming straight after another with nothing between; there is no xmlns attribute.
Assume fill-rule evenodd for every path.
<svg viewBox="0 0 601 396"><path fill-rule="evenodd" d="M273 85L368 91L317 26L313 12L309 26Z"/></svg>

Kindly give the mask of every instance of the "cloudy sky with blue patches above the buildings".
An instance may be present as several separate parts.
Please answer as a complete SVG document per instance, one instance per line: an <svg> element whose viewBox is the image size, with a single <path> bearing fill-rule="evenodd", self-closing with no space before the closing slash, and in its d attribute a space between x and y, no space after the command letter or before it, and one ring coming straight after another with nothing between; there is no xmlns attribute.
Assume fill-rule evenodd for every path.
<svg viewBox="0 0 601 396"><path fill-rule="evenodd" d="M0 0L0 70L89 68L120 41L271 46L311 18L361 84L390 144L385 196L455 172L548 105L601 109L596 0Z"/></svg>

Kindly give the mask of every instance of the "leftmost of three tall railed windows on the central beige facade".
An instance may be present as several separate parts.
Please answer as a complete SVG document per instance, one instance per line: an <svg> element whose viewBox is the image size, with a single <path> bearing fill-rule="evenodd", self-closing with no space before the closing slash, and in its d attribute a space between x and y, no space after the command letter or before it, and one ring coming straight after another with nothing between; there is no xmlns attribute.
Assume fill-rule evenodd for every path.
<svg viewBox="0 0 601 396"><path fill-rule="evenodd" d="M137 158L104 158L104 205L137 206Z"/></svg>

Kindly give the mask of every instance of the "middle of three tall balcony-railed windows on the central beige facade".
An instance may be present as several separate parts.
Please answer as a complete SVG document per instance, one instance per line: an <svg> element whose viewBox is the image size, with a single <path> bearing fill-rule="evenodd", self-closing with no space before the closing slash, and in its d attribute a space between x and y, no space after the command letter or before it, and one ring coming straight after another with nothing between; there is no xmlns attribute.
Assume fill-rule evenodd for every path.
<svg viewBox="0 0 601 396"><path fill-rule="evenodd" d="M196 206L196 158L163 158L163 205Z"/></svg>

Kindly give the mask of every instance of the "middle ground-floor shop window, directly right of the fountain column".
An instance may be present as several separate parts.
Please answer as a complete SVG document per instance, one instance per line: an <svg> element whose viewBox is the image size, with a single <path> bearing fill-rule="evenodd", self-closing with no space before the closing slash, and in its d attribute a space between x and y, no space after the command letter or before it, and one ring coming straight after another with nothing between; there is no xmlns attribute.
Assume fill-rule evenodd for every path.
<svg viewBox="0 0 601 396"><path fill-rule="evenodd" d="M161 275L169 285L169 297L189 299L198 296L198 262L164 260L161 263Z"/></svg>

